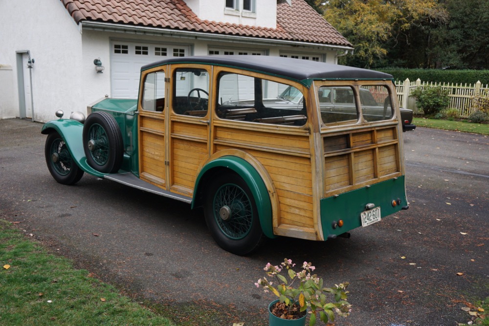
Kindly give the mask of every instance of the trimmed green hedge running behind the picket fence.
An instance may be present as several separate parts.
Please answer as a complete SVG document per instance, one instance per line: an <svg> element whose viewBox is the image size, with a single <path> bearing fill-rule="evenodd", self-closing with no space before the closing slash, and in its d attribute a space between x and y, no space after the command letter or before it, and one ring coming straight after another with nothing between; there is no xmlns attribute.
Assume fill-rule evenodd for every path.
<svg viewBox="0 0 489 326"><path fill-rule="evenodd" d="M418 78L422 82L449 82L475 84L489 84L489 70L441 70L441 69L399 69L382 68L376 69L394 76L396 81L405 81L409 78L411 82Z"/></svg>

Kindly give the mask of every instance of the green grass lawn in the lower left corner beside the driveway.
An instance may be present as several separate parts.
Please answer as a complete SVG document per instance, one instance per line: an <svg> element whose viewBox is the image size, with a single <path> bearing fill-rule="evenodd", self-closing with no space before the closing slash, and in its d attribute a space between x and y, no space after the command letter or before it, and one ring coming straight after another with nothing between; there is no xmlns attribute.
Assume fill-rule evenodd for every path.
<svg viewBox="0 0 489 326"><path fill-rule="evenodd" d="M0 219L1 325L173 325Z"/></svg>

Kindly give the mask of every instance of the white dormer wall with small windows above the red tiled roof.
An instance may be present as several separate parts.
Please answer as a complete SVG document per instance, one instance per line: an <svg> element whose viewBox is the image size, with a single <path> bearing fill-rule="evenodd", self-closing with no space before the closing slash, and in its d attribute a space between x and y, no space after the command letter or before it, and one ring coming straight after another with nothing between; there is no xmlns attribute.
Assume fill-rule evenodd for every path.
<svg viewBox="0 0 489 326"><path fill-rule="evenodd" d="M184 0L202 20L230 22L250 26L277 27L277 0L255 0L256 12L244 12L243 0L238 0L240 10L225 9L224 0Z"/></svg>

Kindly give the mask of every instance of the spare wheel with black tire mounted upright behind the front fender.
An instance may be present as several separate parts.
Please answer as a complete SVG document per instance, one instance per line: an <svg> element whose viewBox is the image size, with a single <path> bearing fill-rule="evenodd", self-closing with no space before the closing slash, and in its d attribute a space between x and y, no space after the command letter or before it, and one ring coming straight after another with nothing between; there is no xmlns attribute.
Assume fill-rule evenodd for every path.
<svg viewBox="0 0 489 326"><path fill-rule="evenodd" d="M124 156L124 144L119 125L106 112L93 112L83 126L83 150L87 162L102 173L119 171Z"/></svg>

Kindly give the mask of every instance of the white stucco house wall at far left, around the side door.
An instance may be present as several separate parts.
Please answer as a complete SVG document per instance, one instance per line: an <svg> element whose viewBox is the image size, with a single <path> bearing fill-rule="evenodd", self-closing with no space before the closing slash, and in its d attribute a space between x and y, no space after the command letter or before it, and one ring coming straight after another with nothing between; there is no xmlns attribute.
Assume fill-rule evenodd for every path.
<svg viewBox="0 0 489 326"><path fill-rule="evenodd" d="M48 121L58 109L82 103L81 34L59 0L0 1L0 63L13 67L13 104L0 117L19 116L16 51L29 50L34 119ZM12 107L13 105L13 107Z"/></svg>

